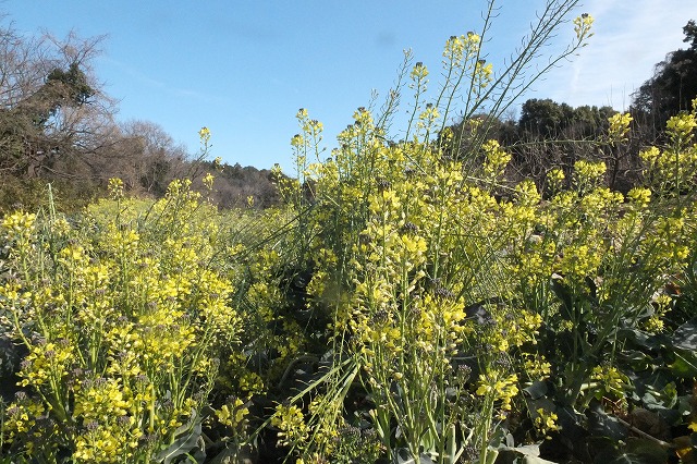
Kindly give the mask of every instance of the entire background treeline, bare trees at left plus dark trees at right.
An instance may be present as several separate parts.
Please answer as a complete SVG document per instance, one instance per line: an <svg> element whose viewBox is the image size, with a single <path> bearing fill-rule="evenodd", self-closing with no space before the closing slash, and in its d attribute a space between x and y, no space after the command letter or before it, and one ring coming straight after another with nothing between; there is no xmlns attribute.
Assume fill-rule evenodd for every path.
<svg viewBox="0 0 697 464"><path fill-rule="evenodd" d="M697 27L683 28L687 49L669 53L652 77L633 95L632 139L622 149L601 149L610 107L573 108L550 99L529 99L517 120L490 115L449 127L456 157L482 138L498 139L513 159L506 178L533 178L545 188L555 167L571 172L578 159L601 159L611 188L627 191L641 170L643 147L661 144L668 119L689 110L697 97ZM65 209L102 195L110 178L121 178L133 195L161 197L171 180L216 175L210 199L223 208L265 208L279 202L270 170L197 159L156 123L118 122L117 102L99 85L91 62L101 38L74 35L27 38L0 28L0 213L33 208L51 183ZM595 142L594 142L595 141ZM475 159L467 157L468 159Z"/></svg>

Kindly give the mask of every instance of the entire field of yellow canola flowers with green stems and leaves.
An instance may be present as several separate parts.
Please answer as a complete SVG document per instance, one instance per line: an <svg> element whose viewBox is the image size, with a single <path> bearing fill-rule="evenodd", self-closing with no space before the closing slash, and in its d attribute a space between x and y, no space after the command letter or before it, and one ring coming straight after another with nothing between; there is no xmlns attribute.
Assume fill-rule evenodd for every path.
<svg viewBox="0 0 697 464"><path fill-rule="evenodd" d="M467 119L517 77L482 40L447 41L435 99L407 56L399 143L403 87L321 161L299 110L282 208L114 179L81 215L49 191L2 218L0 462L694 462L697 100L626 194L583 159L512 183L486 119L445 125L463 85Z"/></svg>

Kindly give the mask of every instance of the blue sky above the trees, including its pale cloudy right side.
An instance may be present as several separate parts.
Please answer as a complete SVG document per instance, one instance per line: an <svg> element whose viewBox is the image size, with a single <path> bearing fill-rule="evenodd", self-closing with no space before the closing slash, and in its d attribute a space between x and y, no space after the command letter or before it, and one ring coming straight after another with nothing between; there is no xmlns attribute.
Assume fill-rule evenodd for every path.
<svg viewBox="0 0 697 464"><path fill-rule="evenodd" d="M542 0L499 0L502 7L489 61L515 50ZM211 131L211 156L257 168L292 166L294 115L307 108L325 124L325 144L384 96L403 50L431 69L436 87L442 46L451 35L478 30L484 0L4 0L24 35L71 29L107 35L95 62L118 119L151 121L198 149ZM525 98L623 109L653 64L681 47L682 27L697 20L688 0L587 0L578 14L596 19L590 45L553 70ZM573 36L561 30L559 45ZM551 50L551 49L550 49ZM399 134L398 138L399 138Z"/></svg>

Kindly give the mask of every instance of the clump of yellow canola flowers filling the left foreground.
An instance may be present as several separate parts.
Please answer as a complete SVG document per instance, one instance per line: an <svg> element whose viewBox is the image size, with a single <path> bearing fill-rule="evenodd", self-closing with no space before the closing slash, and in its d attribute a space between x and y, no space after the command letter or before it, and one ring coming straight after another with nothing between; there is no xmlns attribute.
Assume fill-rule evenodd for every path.
<svg viewBox="0 0 697 464"><path fill-rule="evenodd" d="M120 202L122 184L110 184ZM2 221L13 272L0 285L5 337L27 350L4 443L48 460L149 462L207 405L216 352L235 346L241 323L231 281L210 265L217 225L191 222L187 185L170 187L152 222L126 222L135 212L122 203L115 219L94 217L91 240L60 217Z"/></svg>

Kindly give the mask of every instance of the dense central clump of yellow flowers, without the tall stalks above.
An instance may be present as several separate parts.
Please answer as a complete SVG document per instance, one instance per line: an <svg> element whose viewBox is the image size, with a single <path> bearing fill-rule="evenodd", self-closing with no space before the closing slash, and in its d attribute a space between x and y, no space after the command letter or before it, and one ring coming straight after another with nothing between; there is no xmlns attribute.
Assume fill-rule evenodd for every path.
<svg viewBox="0 0 697 464"><path fill-rule="evenodd" d="M426 76L421 66L415 66L413 77ZM305 118L301 114L301 124ZM491 346L494 357L506 357L510 351L535 343L539 315L503 305L480 328L467 317L466 305L482 296L472 259L492 236L508 246L515 233L527 233L525 224L533 220L540 195L534 184L525 183L518 187L516 203L501 205L493 198L490 185L511 159L496 142L484 146L487 162L481 184L468 184L462 163L442 162L442 149L416 142L386 146L369 111L359 109L354 120L340 134L342 146L332 158L306 171L313 176L316 197L327 200L308 225L326 237L313 252L318 271L308 291L315 302L331 302L335 307L334 333L348 337L345 349L355 353L359 376L375 403L370 414L382 445L393 445L390 424L396 419L405 441L436 449L442 425L428 414L450 415L457 410L466 414L467 407L485 401L505 413L518 394L517 377L510 368L487 369L482 377L501 376L505 388L482 381L468 393L465 383L455 380L464 377L458 377L452 359L475 344ZM511 228L496 236L501 234L497 221ZM479 233L473 235L472 230ZM342 262L347 266L341 268ZM338 274L350 289L340 294L332 281ZM539 359L543 357L528 362L542 363ZM548 366L541 364L537 370L549 374ZM462 399L470 399L465 408L447 401L445 391L452 388L458 389ZM396 398L391 393L395 389ZM331 424L322 437L291 436L289 430L305 430L314 417L293 411L292 419L285 406L274 416L284 442L296 450L317 452L319 447L323 453L331 452L331 445L321 444ZM453 420L464 419L456 417ZM341 426L339 420L333 428Z"/></svg>

